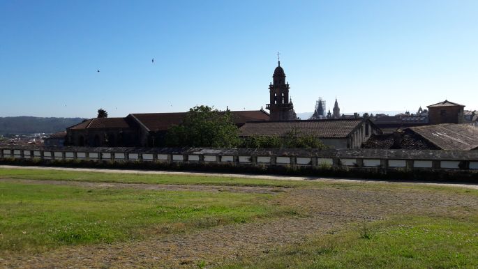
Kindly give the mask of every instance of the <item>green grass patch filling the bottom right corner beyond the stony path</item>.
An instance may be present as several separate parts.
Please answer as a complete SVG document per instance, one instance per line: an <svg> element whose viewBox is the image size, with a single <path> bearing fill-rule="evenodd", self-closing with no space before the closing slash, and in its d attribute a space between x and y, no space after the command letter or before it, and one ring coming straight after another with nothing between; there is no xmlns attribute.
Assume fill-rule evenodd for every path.
<svg viewBox="0 0 478 269"><path fill-rule="evenodd" d="M478 215L400 216L221 268L477 268Z"/></svg>

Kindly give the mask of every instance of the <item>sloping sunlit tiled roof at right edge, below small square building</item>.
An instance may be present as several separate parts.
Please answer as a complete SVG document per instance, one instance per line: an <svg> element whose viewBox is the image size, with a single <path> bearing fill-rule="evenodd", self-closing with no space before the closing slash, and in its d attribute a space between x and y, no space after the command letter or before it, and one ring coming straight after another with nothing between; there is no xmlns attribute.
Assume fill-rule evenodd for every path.
<svg viewBox="0 0 478 269"><path fill-rule="evenodd" d="M444 123L408 128L444 150L470 151L478 148L478 126Z"/></svg>

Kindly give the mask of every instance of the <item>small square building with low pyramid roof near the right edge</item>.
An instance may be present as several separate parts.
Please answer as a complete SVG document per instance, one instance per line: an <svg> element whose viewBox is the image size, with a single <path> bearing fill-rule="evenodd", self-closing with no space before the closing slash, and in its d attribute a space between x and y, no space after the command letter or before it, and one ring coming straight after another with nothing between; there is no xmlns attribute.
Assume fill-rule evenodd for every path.
<svg viewBox="0 0 478 269"><path fill-rule="evenodd" d="M428 106L428 123L463 123L464 105L445 100Z"/></svg>

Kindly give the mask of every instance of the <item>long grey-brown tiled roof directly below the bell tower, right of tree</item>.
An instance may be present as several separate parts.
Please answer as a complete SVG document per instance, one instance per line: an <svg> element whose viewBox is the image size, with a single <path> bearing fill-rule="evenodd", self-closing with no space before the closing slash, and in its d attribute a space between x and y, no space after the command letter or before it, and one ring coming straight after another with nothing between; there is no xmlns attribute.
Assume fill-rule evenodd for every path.
<svg viewBox="0 0 478 269"><path fill-rule="evenodd" d="M314 134L322 138L342 138L355 129L363 119L334 119L306 121L264 121L248 122L239 128L241 136L278 135L295 129L304 134Z"/></svg>

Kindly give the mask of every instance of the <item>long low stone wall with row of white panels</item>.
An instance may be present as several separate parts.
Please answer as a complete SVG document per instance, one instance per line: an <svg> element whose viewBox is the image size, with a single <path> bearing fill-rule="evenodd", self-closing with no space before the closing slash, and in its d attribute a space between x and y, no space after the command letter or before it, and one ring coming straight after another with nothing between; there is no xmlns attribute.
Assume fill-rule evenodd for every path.
<svg viewBox="0 0 478 269"><path fill-rule="evenodd" d="M0 147L0 158L166 162L237 166L478 170L478 151L315 150L283 148Z"/></svg>

